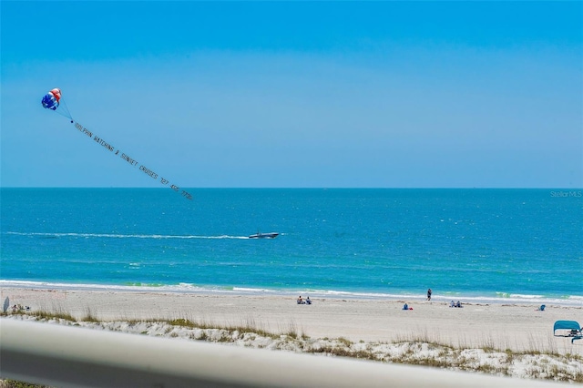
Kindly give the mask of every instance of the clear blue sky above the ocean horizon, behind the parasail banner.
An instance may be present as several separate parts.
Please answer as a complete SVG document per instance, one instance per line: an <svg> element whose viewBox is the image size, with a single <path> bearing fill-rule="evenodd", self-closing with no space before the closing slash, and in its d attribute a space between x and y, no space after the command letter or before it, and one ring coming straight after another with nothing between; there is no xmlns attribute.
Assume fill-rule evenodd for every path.
<svg viewBox="0 0 583 388"><path fill-rule="evenodd" d="M3 187L583 187L582 2L0 6Z"/></svg>

